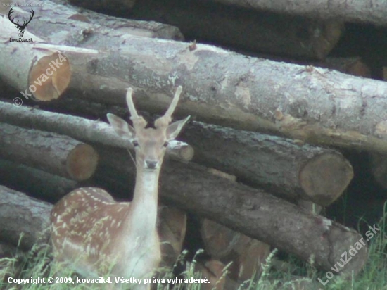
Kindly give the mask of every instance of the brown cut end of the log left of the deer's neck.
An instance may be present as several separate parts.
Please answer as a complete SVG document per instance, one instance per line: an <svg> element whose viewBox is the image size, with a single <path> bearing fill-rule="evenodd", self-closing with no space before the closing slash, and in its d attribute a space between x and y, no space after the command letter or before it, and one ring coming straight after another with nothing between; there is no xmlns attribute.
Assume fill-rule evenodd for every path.
<svg viewBox="0 0 387 290"><path fill-rule="evenodd" d="M78 144L68 155L66 170L72 179L89 179L96 171L99 155L88 144Z"/></svg>

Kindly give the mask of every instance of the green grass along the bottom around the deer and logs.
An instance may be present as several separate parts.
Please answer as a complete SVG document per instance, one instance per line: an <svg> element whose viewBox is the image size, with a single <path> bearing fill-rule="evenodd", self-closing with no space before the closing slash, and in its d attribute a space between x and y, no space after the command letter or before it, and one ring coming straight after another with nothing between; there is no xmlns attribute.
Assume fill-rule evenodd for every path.
<svg viewBox="0 0 387 290"><path fill-rule="evenodd" d="M386 235L386 208L383 218L377 225L381 229L381 232L376 234L369 244L369 259L362 272L356 277L347 277L344 279L341 276L335 276L329 279L329 282L323 286L317 281L317 278L325 281L324 271L317 270L313 262L310 263L295 263L290 261L288 270L276 270L274 267L274 261L277 251L274 250L267 258L265 265L263 265L262 274L260 277L251 277L248 281L244 282L239 289L248 290L274 290L274 289L299 289L296 284L301 282L313 283L305 289L326 289L326 290L387 290L387 235ZM30 253L23 254L18 253L14 258L1 258L0 259L0 281L7 277L18 277L22 279L37 278L37 277L53 277L53 270L50 267L51 254L50 248L47 245L36 246L30 251ZM198 255L200 252L196 253ZM196 256L195 256L196 257ZM182 263L184 253L182 257L177 260L177 263ZM177 263L175 265L177 265ZM184 278L189 279L191 277L201 278L201 274L194 271L196 258L189 265L186 265L186 270L183 273ZM160 269L162 272L160 279L174 278L171 270ZM224 271L224 275L226 275ZM61 274L61 276L72 277L72 281L75 281L75 277L68 272L68 275ZM128 289L130 284L124 284L122 289ZM293 286L292 286L293 285ZM187 287L186 287L187 286ZM200 290L202 284L179 284L174 289L177 290ZM0 289L103 289L101 285L86 285L86 284L25 284L18 286L18 284L8 284L8 282L2 282ZM158 284L158 290L168 289L167 284Z"/></svg>

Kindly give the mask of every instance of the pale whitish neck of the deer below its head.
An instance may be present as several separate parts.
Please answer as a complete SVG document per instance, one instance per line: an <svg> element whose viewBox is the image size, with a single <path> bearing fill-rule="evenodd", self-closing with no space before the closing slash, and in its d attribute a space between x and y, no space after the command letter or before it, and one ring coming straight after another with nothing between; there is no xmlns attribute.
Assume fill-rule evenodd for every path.
<svg viewBox="0 0 387 290"><path fill-rule="evenodd" d="M137 164L136 186L129 213L129 230L136 237L151 237L151 233L156 233L159 174L160 169L145 170Z"/></svg>

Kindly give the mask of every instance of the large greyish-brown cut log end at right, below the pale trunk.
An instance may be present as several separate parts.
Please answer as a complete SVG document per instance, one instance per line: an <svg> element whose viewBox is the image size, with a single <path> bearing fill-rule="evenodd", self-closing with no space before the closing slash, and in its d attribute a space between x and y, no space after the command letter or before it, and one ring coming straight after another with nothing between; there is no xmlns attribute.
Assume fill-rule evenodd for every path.
<svg viewBox="0 0 387 290"><path fill-rule="evenodd" d="M312 158L299 175L305 194L321 206L333 203L352 179L352 165L338 153L324 153Z"/></svg>

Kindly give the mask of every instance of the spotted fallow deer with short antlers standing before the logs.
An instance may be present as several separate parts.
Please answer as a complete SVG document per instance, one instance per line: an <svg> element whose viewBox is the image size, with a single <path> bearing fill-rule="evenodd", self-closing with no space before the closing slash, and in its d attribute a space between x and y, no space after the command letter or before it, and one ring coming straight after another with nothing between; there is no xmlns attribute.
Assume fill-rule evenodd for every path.
<svg viewBox="0 0 387 290"><path fill-rule="evenodd" d="M59 201L51 212L51 241L55 262L65 262L80 275L92 278L109 275L141 279L151 277L160 262L156 229L158 177L168 141L177 137L189 120L170 124L182 87L156 129L145 128L137 114L132 89L127 90L127 106L133 127L108 114L113 129L128 139L136 151L136 186L130 203L115 202L103 189L76 189ZM134 284L132 284L134 286ZM150 284L136 286L150 289Z"/></svg>

